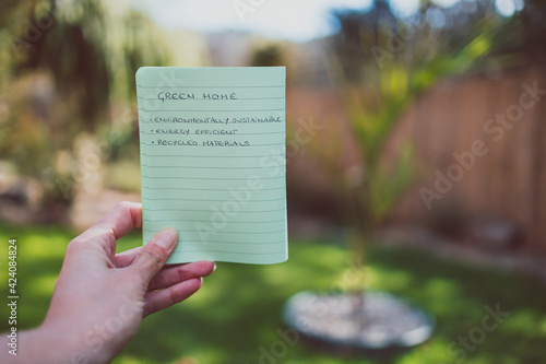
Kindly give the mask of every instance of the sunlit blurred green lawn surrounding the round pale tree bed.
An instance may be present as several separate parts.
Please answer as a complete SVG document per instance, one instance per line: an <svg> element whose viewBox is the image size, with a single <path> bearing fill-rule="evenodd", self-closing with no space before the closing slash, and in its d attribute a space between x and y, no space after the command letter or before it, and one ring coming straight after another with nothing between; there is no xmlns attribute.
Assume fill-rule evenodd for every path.
<svg viewBox="0 0 546 364"><path fill-rule="evenodd" d="M7 296L8 239L15 237L19 244L20 329L39 325L44 318L66 246L73 236L58 226L0 225L2 297ZM140 243L140 235L134 234L122 238L118 249ZM543 284L471 269L424 253L379 247L369 251L368 285L405 296L432 313L437 320L432 339L388 357L339 357L304 342L284 345L277 331L284 329L280 319L283 303L301 290L324 291L339 285L346 273L346 261L347 253L340 244L293 239L286 263L219 262L195 296L146 318L114 363L531 364L546 360ZM482 338L477 328L487 315L484 307L495 308L497 304L511 315ZM7 308L2 313L7 315ZM8 329L4 318L0 319L1 331ZM464 350L456 341L470 334L483 342ZM280 357L264 359L263 351Z"/></svg>

